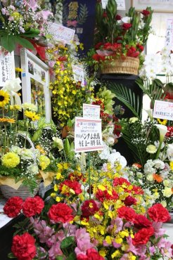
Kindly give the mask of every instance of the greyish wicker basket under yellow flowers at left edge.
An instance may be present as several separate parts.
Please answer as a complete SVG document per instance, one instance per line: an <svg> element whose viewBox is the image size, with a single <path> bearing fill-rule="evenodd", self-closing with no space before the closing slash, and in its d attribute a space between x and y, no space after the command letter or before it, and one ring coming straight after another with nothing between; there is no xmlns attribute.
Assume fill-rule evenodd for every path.
<svg viewBox="0 0 173 260"><path fill-rule="evenodd" d="M38 184L38 188L35 188L33 193L30 193L30 190L26 186L20 186L18 190L15 190L11 186L1 185L0 189L2 195L6 199L9 199L10 197L18 196L18 197L22 197L22 199L25 200L27 197L34 197L34 195L37 194L39 190L39 184Z"/></svg>

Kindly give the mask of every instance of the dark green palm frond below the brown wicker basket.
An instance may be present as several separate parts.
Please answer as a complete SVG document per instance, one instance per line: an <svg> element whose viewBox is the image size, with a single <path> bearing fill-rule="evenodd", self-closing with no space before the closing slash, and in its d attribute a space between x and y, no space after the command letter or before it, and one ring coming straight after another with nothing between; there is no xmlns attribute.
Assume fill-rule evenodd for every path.
<svg viewBox="0 0 173 260"><path fill-rule="evenodd" d="M108 84L108 89L115 93L115 96L124 105L127 106L133 113L135 117L141 118L141 108L139 96L134 93L128 86L123 86L122 84L117 85L113 82Z"/></svg>

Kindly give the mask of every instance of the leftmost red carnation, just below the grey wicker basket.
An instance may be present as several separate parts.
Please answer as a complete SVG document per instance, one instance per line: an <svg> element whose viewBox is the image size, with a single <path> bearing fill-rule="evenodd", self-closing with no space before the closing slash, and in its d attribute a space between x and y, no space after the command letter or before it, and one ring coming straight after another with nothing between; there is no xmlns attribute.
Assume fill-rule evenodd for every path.
<svg viewBox="0 0 173 260"><path fill-rule="evenodd" d="M21 197L11 197L4 205L4 214L9 216L9 218L13 218L18 216L22 207L23 199Z"/></svg>

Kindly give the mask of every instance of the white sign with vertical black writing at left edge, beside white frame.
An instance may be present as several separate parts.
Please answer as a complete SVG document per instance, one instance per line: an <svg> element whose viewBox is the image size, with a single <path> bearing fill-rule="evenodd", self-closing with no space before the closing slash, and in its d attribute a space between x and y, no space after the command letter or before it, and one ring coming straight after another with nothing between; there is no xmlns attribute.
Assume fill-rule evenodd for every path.
<svg viewBox="0 0 173 260"><path fill-rule="evenodd" d="M7 80L15 79L14 52L0 53L0 86L4 86Z"/></svg>

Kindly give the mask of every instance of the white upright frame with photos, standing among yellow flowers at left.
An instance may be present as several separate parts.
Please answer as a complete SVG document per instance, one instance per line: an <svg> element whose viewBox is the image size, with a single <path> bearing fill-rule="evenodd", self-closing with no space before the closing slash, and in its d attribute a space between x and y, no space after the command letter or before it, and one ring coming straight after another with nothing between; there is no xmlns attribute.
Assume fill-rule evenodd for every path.
<svg viewBox="0 0 173 260"><path fill-rule="evenodd" d="M37 105L39 115L51 120L51 91L49 67L26 48L21 48L23 103Z"/></svg>

